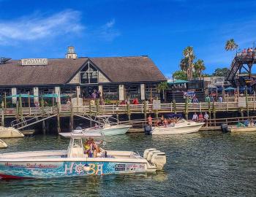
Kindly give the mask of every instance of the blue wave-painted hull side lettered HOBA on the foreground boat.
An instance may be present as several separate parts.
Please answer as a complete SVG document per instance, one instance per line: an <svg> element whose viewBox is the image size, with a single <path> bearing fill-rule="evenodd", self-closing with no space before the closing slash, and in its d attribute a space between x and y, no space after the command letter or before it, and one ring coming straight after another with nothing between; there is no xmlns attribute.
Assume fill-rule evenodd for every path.
<svg viewBox="0 0 256 197"><path fill-rule="evenodd" d="M87 169L86 169L87 167ZM150 172L146 163L108 161L0 162L2 179L85 177Z"/></svg>

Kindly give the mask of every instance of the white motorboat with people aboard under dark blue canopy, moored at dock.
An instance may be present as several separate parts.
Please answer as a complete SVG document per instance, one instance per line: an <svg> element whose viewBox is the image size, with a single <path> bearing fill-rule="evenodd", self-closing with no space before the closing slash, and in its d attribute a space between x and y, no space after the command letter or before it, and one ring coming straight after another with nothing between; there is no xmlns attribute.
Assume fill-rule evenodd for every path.
<svg viewBox="0 0 256 197"><path fill-rule="evenodd" d="M173 125L161 125L153 127L152 135L169 135L169 134L190 134L199 131L204 123L196 123L194 121L187 121L185 119L178 120L178 123Z"/></svg>

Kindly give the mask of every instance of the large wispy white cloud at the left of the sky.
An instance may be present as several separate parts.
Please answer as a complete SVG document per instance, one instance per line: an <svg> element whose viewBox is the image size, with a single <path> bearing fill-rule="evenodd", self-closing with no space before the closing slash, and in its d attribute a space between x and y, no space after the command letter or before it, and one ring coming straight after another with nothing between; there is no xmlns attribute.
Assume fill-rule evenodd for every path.
<svg viewBox="0 0 256 197"><path fill-rule="evenodd" d="M46 18L37 14L17 20L0 21L0 27L0 45L78 33L84 28L80 23L80 12L70 9Z"/></svg>

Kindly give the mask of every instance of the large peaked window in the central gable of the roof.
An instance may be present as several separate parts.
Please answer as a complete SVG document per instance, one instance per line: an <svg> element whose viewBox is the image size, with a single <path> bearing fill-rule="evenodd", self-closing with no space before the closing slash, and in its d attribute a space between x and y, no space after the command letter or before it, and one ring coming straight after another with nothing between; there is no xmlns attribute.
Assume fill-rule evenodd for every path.
<svg viewBox="0 0 256 197"><path fill-rule="evenodd" d="M98 75L97 69L91 63L87 63L80 71L80 84L97 83Z"/></svg>

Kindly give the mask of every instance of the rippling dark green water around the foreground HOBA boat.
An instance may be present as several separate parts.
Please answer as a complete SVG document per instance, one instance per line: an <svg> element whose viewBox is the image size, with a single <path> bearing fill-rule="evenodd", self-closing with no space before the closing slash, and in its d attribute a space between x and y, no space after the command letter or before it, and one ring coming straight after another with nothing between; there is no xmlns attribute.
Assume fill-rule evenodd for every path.
<svg viewBox="0 0 256 197"><path fill-rule="evenodd" d="M5 139L0 152L64 150L68 139L34 136ZM256 134L185 134L106 137L105 149L167 154L157 174L62 179L0 180L0 196L256 196Z"/></svg>

